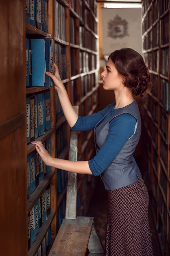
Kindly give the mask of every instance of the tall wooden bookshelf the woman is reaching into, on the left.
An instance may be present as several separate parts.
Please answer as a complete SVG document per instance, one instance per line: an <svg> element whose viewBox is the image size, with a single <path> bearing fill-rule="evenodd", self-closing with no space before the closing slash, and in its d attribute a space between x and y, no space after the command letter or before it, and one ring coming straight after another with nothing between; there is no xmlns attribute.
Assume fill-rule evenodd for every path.
<svg viewBox="0 0 170 256"><path fill-rule="evenodd" d="M2 36L4 37L0 43L1 77L3 77L3 84L0 84L1 95L3 95L0 101L1 110L3 110L0 112L2 191L0 227L3 236L0 241L3 255L14 253L18 256L35 256L39 248L41 252L46 250L45 254L48 255L50 244L53 243L61 221L65 217L67 183L65 171L51 168L47 172L44 169L46 175L31 194L27 195L27 157L35 151L35 146L27 143L26 99L33 95L45 94L46 91L50 92L50 128L36 139L45 144L50 138L50 150L54 157L68 159L70 129L53 86L26 87L26 38L50 38L53 41L53 61L59 66L61 79L72 104L79 106L80 115L92 114L98 108L99 61L96 1L38 1L48 6L48 12L44 11L43 14L44 20L48 19L46 29L45 26L41 28L41 24L33 25L26 21L26 4L28 4L27 7L30 6L29 2L9 0L9 4L4 1L0 3L0 20L3 24ZM93 136L91 131L78 133L79 160L93 156L94 147L91 142L94 139ZM94 180L91 176L78 175L78 216L87 214L92 196L89 191L92 192L93 189ZM35 242L29 249L28 216L47 190L50 191L50 213L39 228ZM46 244L48 243L48 248L45 241ZM6 246L7 244L10 246Z"/></svg>

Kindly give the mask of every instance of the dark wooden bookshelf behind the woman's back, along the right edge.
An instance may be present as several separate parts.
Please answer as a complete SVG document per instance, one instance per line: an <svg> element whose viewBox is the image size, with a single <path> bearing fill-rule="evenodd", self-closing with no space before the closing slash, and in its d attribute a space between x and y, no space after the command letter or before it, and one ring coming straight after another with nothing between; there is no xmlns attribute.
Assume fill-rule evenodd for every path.
<svg viewBox="0 0 170 256"><path fill-rule="evenodd" d="M170 6L142 1L143 55L153 80L144 100L144 162L151 177L150 201L162 255L170 255Z"/></svg>

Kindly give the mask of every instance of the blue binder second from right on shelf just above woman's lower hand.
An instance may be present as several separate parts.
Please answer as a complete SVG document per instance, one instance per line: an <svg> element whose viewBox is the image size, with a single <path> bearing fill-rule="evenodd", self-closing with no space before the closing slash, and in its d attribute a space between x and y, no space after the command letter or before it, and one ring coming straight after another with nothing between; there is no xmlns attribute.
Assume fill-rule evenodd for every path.
<svg viewBox="0 0 170 256"><path fill-rule="evenodd" d="M40 92L37 98L38 106L38 136L45 133L45 99L44 92Z"/></svg>

